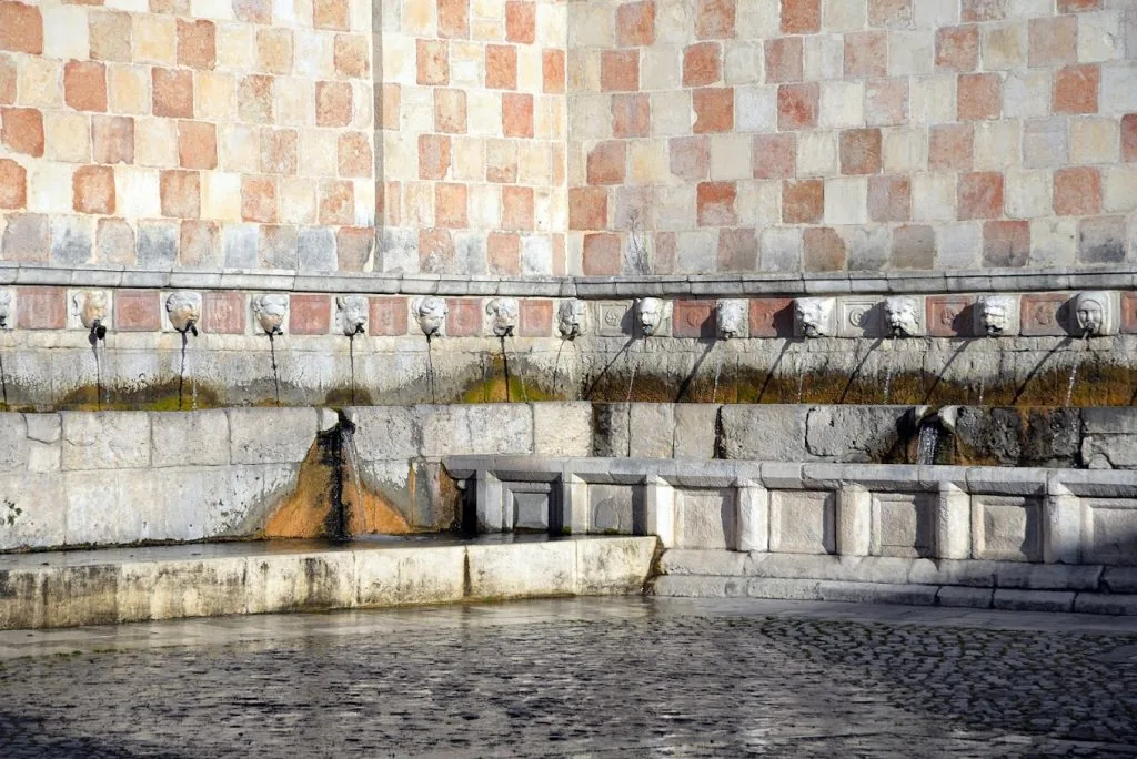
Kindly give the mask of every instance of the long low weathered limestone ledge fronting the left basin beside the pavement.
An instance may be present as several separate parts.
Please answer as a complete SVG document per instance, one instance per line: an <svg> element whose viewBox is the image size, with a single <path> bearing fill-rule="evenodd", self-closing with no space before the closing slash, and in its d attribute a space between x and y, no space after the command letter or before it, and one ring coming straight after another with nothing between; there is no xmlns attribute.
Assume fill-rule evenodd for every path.
<svg viewBox="0 0 1137 759"><path fill-rule="evenodd" d="M209 543L0 556L0 629L640 593L655 537Z"/></svg>

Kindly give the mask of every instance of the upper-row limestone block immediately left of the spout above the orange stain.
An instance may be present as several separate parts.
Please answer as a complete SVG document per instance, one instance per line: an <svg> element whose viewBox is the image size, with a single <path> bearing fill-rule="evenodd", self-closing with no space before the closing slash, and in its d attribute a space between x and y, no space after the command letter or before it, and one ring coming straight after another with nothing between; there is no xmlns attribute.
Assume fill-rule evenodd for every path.
<svg viewBox="0 0 1137 759"><path fill-rule="evenodd" d="M299 462L315 442L318 415L313 408L229 409L233 464Z"/></svg>

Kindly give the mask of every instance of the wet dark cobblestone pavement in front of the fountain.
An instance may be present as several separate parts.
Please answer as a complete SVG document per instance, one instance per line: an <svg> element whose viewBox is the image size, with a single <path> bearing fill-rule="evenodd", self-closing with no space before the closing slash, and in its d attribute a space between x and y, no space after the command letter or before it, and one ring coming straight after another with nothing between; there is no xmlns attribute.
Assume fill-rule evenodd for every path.
<svg viewBox="0 0 1137 759"><path fill-rule="evenodd" d="M0 757L1137 754L1129 620L597 599L0 633Z"/></svg>

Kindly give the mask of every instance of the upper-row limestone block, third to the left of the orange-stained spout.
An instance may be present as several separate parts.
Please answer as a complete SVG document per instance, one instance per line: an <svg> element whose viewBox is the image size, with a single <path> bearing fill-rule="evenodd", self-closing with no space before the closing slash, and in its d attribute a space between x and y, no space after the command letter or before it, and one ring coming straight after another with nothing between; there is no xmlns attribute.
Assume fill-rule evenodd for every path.
<svg viewBox="0 0 1137 759"><path fill-rule="evenodd" d="M65 470L128 469L150 464L150 415L144 411L64 411Z"/></svg>

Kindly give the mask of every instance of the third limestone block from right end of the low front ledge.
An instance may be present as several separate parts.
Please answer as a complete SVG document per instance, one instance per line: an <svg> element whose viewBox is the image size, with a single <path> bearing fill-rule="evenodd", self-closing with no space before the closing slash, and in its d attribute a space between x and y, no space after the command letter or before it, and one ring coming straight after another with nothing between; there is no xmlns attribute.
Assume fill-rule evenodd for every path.
<svg viewBox="0 0 1137 759"><path fill-rule="evenodd" d="M458 601L465 559L460 545L357 551L359 606Z"/></svg>

